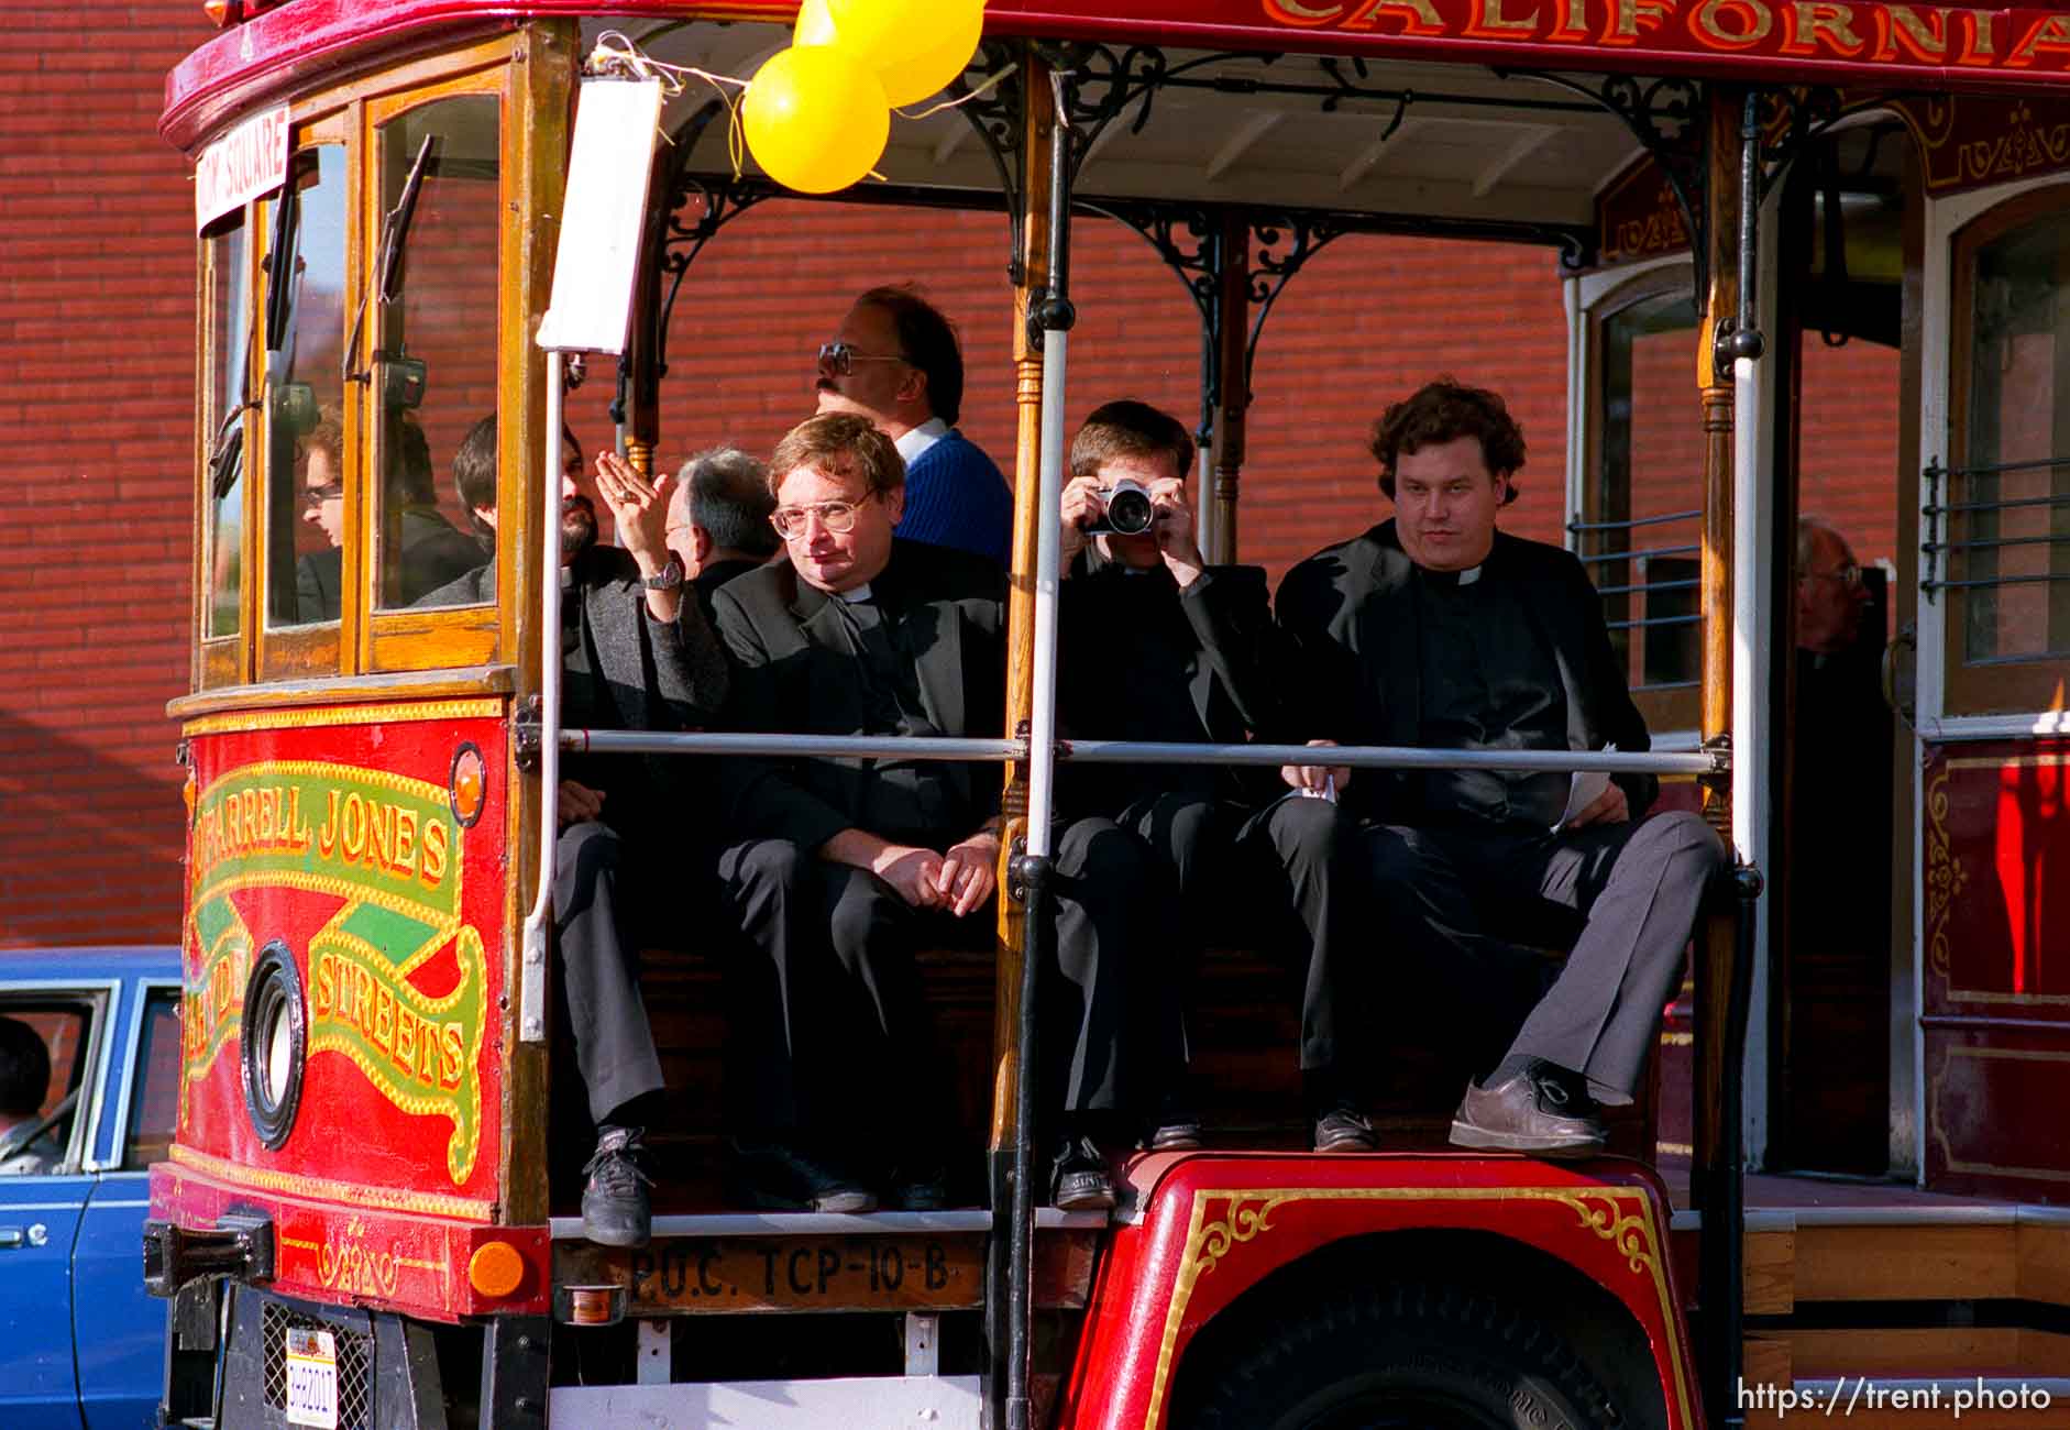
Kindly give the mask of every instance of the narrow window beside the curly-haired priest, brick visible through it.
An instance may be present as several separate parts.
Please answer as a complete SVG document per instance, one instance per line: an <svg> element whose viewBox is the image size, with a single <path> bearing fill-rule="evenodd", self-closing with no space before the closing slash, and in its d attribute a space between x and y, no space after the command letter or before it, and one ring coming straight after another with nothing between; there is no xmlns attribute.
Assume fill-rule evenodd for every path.
<svg viewBox="0 0 2070 1430"><path fill-rule="evenodd" d="M1584 499L1581 559L1637 691L1702 679L1697 571L1704 426L1691 401L1687 288L1602 321L1602 459Z"/></svg>

